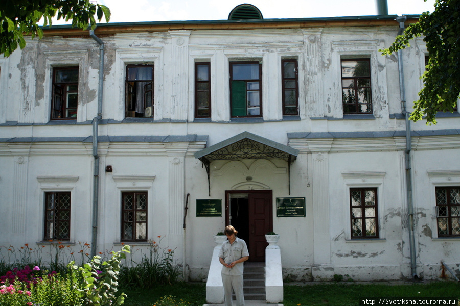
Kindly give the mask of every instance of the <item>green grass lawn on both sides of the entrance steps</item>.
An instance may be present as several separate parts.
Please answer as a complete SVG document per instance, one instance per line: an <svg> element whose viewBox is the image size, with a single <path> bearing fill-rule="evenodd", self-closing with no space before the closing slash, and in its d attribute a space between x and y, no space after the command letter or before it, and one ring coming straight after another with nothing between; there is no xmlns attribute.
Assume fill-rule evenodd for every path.
<svg viewBox="0 0 460 306"><path fill-rule="evenodd" d="M147 290L127 290L126 306L153 306L163 296L175 296L189 302L191 306L200 306L206 302L204 283L177 283L162 285ZM284 285L285 306L313 305L359 305L366 297L455 297L460 298L460 283L440 281L430 284L414 283L409 285L331 283L315 285Z"/></svg>

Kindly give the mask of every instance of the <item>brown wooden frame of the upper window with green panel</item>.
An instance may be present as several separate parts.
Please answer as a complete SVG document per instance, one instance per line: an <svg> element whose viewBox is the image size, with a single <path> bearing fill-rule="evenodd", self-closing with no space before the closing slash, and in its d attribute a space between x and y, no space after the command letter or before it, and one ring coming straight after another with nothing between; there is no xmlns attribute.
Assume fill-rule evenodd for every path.
<svg viewBox="0 0 460 306"><path fill-rule="evenodd" d="M258 79L238 79L234 80L234 65L242 65L242 64L257 64L259 65L259 78ZM262 61L235 61L235 62L229 62L229 70L230 70L230 117L231 118L260 118L263 116L262 113ZM246 96L245 96L245 106L246 106L246 115L239 115L234 113L234 103L233 99L235 98L234 94L234 87L232 86L232 83L234 81L242 81L246 83ZM248 89L248 83L254 83L258 82L259 83L259 88L258 89ZM257 115L248 115L248 110L250 107L248 106L248 92L254 92L258 91L259 92L259 114ZM254 108L254 106L253 106Z"/></svg>

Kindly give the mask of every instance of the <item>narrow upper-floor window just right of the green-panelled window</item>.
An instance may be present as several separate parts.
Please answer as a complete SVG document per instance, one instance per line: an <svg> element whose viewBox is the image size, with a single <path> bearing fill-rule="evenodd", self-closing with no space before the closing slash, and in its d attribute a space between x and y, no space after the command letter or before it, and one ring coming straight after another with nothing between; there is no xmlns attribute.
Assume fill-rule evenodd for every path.
<svg viewBox="0 0 460 306"><path fill-rule="evenodd" d="M283 115L298 115L297 60L281 60Z"/></svg>

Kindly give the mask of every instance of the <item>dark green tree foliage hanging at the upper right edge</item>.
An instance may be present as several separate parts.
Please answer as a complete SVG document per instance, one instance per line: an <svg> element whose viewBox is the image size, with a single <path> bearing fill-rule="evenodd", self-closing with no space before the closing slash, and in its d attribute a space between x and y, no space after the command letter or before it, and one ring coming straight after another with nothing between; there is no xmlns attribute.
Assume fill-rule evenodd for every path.
<svg viewBox="0 0 460 306"><path fill-rule="evenodd" d="M426 0L424 0L426 1ZM434 12L424 12L410 24L383 55L409 45L409 40L424 35L429 61L422 75L424 88L410 115L413 121L426 116L427 124L436 124L436 112L453 112L460 96L460 0L436 0Z"/></svg>

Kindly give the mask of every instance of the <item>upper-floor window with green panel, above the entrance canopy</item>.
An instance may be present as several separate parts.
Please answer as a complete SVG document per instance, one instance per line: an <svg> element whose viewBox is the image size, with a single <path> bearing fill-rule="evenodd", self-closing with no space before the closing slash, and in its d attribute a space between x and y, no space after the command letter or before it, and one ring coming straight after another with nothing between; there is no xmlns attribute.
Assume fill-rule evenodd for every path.
<svg viewBox="0 0 460 306"><path fill-rule="evenodd" d="M231 117L262 117L261 62L230 63Z"/></svg>

